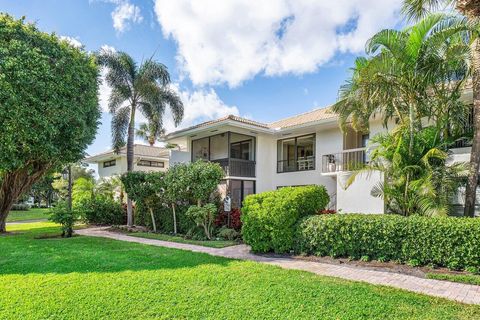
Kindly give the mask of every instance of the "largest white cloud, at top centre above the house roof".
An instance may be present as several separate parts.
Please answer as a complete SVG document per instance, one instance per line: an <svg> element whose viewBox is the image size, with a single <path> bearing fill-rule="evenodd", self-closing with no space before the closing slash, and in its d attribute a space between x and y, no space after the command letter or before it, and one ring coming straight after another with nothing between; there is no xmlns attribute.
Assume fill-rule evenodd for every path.
<svg viewBox="0 0 480 320"><path fill-rule="evenodd" d="M314 72L398 20L402 0L155 0L165 37L194 84Z"/></svg>

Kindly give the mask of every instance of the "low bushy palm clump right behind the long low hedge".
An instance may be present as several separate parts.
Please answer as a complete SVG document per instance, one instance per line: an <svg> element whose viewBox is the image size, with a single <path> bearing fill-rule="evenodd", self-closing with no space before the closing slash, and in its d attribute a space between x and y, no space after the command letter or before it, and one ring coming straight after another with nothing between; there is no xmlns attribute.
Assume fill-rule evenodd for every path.
<svg viewBox="0 0 480 320"><path fill-rule="evenodd" d="M447 164L449 141L442 141L436 127L416 131L413 145L409 136L408 130L399 127L373 137L371 143L376 147L369 163L353 172L347 186L360 174L382 172L385 181L372 189L372 195L384 199L387 212L449 215L452 199L468 174L467 166Z"/></svg>

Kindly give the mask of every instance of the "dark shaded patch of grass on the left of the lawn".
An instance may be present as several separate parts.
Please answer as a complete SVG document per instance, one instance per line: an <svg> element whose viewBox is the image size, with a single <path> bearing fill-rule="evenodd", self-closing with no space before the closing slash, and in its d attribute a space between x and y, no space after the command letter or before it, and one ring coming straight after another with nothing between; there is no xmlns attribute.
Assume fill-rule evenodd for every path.
<svg viewBox="0 0 480 320"><path fill-rule="evenodd" d="M0 237L0 275L88 273L227 266L232 260L203 253L97 237L35 239L58 227Z"/></svg>

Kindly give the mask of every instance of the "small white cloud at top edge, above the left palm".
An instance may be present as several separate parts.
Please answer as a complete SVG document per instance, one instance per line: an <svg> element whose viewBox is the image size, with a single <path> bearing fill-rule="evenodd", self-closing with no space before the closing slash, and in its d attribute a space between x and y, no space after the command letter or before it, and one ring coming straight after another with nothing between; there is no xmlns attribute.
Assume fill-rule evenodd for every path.
<svg viewBox="0 0 480 320"><path fill-rule="evenodd" d="M112 11L113 27L118 33L130 29L132 23L140 23L143 16L140 7L130 3L129 0L90 0L91 2L102 1L115 5Z"/></svg>

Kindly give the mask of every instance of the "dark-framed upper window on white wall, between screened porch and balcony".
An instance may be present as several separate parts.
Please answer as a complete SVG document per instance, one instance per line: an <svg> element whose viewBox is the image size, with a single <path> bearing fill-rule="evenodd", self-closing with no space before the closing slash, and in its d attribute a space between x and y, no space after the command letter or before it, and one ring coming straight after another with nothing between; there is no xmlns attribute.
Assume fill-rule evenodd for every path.
<svg viewBox="0 0 480 320"><path fill-rule="evenodd" d="M315 170L315 135L277 142L277 172Z"/></svg>

